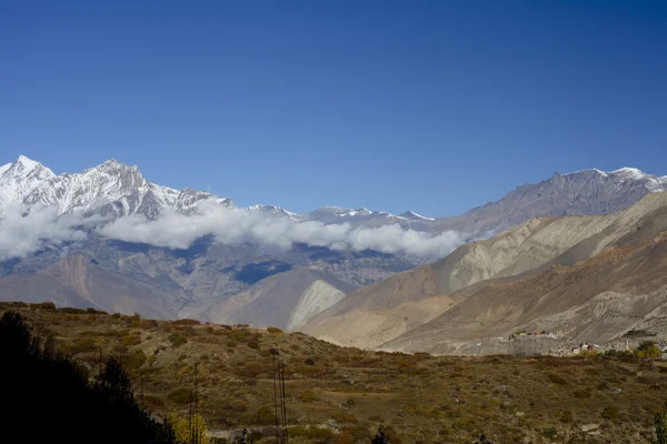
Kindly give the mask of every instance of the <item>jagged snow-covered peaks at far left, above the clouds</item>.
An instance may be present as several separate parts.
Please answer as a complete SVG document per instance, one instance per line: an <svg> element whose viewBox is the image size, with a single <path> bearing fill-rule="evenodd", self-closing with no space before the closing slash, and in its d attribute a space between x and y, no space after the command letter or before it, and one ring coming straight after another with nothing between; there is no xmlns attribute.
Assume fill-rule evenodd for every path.
<svg viewBox="0 0 667 444"><path fill-rule="evenodd" d="M210 199L217 198L148 182L137 167L113 159L81 173L60 175L23 155L0 167L0 203L54 206L58 214L79 210L113 215L138 213L152 219L163 209L189 213L198 202ZM228 198L217 201L232 204Z"/></svg>

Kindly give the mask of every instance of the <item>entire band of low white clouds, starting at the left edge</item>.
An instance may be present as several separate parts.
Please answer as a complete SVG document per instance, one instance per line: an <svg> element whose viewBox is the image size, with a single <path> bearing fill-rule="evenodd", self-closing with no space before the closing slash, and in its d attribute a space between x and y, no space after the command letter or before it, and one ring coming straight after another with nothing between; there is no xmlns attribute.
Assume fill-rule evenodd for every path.
<svg viewBox="0 0 667 444"><path fill-rule="evenodd" d="M418 258L441 258L462 243L459 233L437 235L405 230L398 224L380 228L355 228L349 223L326 225L321 222L296 222L289 218L270 218L245 209L229 209L201 202L195 214L165 212L155 220L133 214L111 221L83 218L81 214L57 216L54 209L21 205L2 209L0 220L0 259L24 256L67 241L86 240L92 229L108 239L146 243L169 249L187 249L197 239L212 235L218 242L257 244L269 250L289 250L293 243L326 246L332 250L375 250Z"/></svg>

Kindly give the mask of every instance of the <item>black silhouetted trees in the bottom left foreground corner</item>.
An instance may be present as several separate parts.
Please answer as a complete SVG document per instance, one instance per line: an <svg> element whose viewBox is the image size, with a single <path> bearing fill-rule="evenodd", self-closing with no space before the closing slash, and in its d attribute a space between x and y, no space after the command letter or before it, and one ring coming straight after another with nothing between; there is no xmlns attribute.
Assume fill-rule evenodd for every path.
<svg viewBox="0 0 667 444"><path fill-rule="evenodd" d="M58 355L53 340L40 343L22 316L0 317L2 423L29 443L175 443L168 424L152 420L132 395L115 361L93 383L83 366ZM27 432L28 431L28 432Z"/></svg>

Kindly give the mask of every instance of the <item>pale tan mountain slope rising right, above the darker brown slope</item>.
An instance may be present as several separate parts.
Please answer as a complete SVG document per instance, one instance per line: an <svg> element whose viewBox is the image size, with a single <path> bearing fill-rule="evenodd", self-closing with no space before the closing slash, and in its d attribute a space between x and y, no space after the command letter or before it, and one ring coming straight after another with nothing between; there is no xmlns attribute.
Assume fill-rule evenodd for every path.
<svg viewBox="0 0 667 444"><path fill-rule="evenodd" d="M571 265L594 258L607 246L637 245L666 230L667 193L653 193L607 215L532 219L496 238L465 244L437 263L361 287L300 329L341 344L378 346L380 340L392 337L380 334L387 331L386 325L378 332L369 332L367 325L358 326L369 312L375 311L377 317L389 309L427 297L452 293L462 297L489 280L520 280L526 273L551 264ZM390 313L386 316L392 319Z"/></svg>

